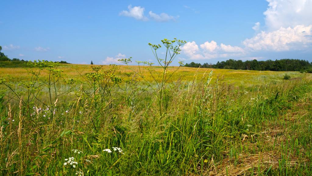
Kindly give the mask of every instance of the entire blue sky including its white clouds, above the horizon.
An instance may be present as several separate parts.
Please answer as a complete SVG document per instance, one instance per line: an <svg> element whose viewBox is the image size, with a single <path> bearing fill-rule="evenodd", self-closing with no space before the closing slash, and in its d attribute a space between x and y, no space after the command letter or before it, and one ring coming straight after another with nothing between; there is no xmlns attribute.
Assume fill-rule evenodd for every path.
<svg viewBox="0 0 312 176"><path fill-rule="evenodd" d="M3 1L9 58L118 64L155 62L148 43L188 41L174 61L312 61L312 0ZM163 50L158 50L161 57Z"/></svg>

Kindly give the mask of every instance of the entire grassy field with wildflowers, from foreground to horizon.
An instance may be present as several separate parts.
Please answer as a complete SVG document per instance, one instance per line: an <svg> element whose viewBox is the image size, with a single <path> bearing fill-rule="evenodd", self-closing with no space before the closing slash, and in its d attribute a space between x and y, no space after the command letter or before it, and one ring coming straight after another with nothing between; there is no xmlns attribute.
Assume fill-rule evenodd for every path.
<svg viewBox="0 0 312 176"><path fill-rule="evenodd" d="M311 74L96 66L0 68L0 175L312 174Z"/></svg>

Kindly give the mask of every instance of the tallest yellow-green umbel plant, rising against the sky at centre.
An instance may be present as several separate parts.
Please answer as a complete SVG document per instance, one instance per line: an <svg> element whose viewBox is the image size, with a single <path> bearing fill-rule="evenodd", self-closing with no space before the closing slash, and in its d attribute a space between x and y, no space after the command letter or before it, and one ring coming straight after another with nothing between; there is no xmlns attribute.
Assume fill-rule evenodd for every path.
<svg viewBox="0 0 312 176"><path fill-rule="evenodd" d="M169 39L163 39L161 40L163 43L163 46L165 47L165 58L162 59L159 57L158 49L162 47L160 44L151 44L149 43L149 46L158 62L158 66L161 66L162 72L161 74L158 74L158 78L156 78L155 73L156 71L153 70L151 67L149 67L147 70L149 71L150 75L152 76L153 80L155 81L158 90L155 91L156 96L158 97L158 109L159 109L159 115L163 116L163 114L166 112L168 108L168 98L169 95L166 94L166 84L168 80L171 78L171 76L178 71L180 66L183 66L183 62L179 61L179 67L174 69L172 73L168 74L168 67L172 64L173 60L176 58L178 54L180 54L181 51L181 46L186 44L186 41L184 40L178 40L174 38L173 40ZM123 64L128 65L132 60L132 57L129 59L120 59L119 61ZM144 79L144 66L149 65L152 66L154 63L149 63L149 62L142 62L142 61L136 61L138 64L139 71L134 71L137 75L139 75L141 78ZM143 63L143 66L140 64ZM129 66L129 65L128 65ZM168 75L167 75L168 74Z"/></svg>

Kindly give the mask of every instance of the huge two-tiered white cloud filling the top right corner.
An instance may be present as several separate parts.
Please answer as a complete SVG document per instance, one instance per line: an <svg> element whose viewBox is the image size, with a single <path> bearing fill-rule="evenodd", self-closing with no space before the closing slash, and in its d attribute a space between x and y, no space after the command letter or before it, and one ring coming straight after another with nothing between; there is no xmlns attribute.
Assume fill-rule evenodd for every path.
<svg viewBox="0 0 312 176"><path fill-rule="evenodd" d="M312 44L312 0L267 0L263 13L266 30L243 44L247 49L266 51L290 51L307 49ZM260 23L259 23L260 25ZM254 30L259 29L257 23Z"/></svg>

